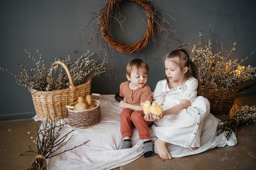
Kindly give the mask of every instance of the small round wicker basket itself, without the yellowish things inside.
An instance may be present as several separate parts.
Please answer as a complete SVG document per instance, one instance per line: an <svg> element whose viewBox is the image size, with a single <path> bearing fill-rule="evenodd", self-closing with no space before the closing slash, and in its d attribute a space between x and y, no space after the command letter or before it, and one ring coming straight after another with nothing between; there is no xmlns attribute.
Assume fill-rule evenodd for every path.
<svg viewBox="0 0 256 170"><path fill-rule="evenodd" d="M92 102L95 104L95 108L90 110L74 111L68 108L68 124L77 129L85 129L98 124L100 122L100 102L93 99Z"/></svg>

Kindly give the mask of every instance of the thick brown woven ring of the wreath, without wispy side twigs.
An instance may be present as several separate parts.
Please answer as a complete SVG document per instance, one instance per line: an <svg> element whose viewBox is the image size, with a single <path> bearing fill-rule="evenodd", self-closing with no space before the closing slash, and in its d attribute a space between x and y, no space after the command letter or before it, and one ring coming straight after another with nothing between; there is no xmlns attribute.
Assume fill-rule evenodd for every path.
<svg viewBox="0 0 256 170"><path fill-rule="evenodd" d="M146 0L129 0L143 6L145 13L147 14L148 23L147 23L147 32L140 41L132 45L124 45L124 43L118 41L117 39L114 39L109 34L109 17L112 11L115 9L115 7L121 1L122 0L110 0L109 3L104 8L104 12L99 18L102 38L105 39L105 41L108 43L109 46L111 46L112 48L115 48L118 52L125 52L125 53L138 52L147 45L148 39L151 38L154 34L154 16L156 15L155 8L151 4L149 4L148 1Z"/></svg>

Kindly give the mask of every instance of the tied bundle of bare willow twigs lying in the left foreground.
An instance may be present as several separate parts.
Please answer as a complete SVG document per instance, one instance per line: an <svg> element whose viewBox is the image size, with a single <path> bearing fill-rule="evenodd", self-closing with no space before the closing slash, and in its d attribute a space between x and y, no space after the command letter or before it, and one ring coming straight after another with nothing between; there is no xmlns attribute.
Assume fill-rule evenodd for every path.
<svg viewBox="0 0 256 170"><path fill-rule="evenodd" d="M70 141L72 136L68 138L68 134L75 131L75 129L67 132L67 134L62 134L61 129L64 127L65 123L61 122L61 120L52 120L50 117L47 117L47 119L42 122L40 129L36 128L35 122L33 122L33 124L36 131L36 140L33 139L32 136L31 140L33 140L33 143L35 143L36 145L36 151L31 150L31 147L29 146L30 150L24 153L34 152L37 155L35 157L35 160L33 160L31 165L28 167L28 169L46 169L47 159L55 157L56 155L60 155L61 153L73 150L79 146L83 146L88 142L86 141L81 145L74 146L73 148L70 148L68 150L56 153L56 151L60 150L60 148L65 146L68 141ZM30 132L28 132L28 134L30 134ZM22 155L24 153L20 153L19 155Z"/></svg>

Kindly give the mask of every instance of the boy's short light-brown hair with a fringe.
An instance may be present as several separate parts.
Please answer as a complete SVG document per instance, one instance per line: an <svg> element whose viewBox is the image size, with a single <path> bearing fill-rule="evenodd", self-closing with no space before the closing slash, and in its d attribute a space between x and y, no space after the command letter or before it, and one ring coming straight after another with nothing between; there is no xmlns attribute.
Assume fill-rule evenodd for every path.
<svg viewBox="0 0 256 170"><path fill-rule="evenodd" d="M131 60L125 69L125 75L131 76L132 70L137 69L138 71L143 71L145 74L148 75L149 73L149 67L147 62L141 60L141 59L133 59Z"/></svg>

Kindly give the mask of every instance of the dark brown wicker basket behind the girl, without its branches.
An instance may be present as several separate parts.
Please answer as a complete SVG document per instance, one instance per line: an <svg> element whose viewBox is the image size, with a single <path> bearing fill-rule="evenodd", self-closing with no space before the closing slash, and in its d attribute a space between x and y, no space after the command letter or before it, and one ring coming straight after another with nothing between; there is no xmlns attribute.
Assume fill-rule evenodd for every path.
<svg viewBox="0 0 256 170"><path fill-rule="evenodd" d="M236 92L236 88L223 90L220 87L200 85L200 96L204 96L210 101L211 113L216 115L229 114Z"/></svg>

